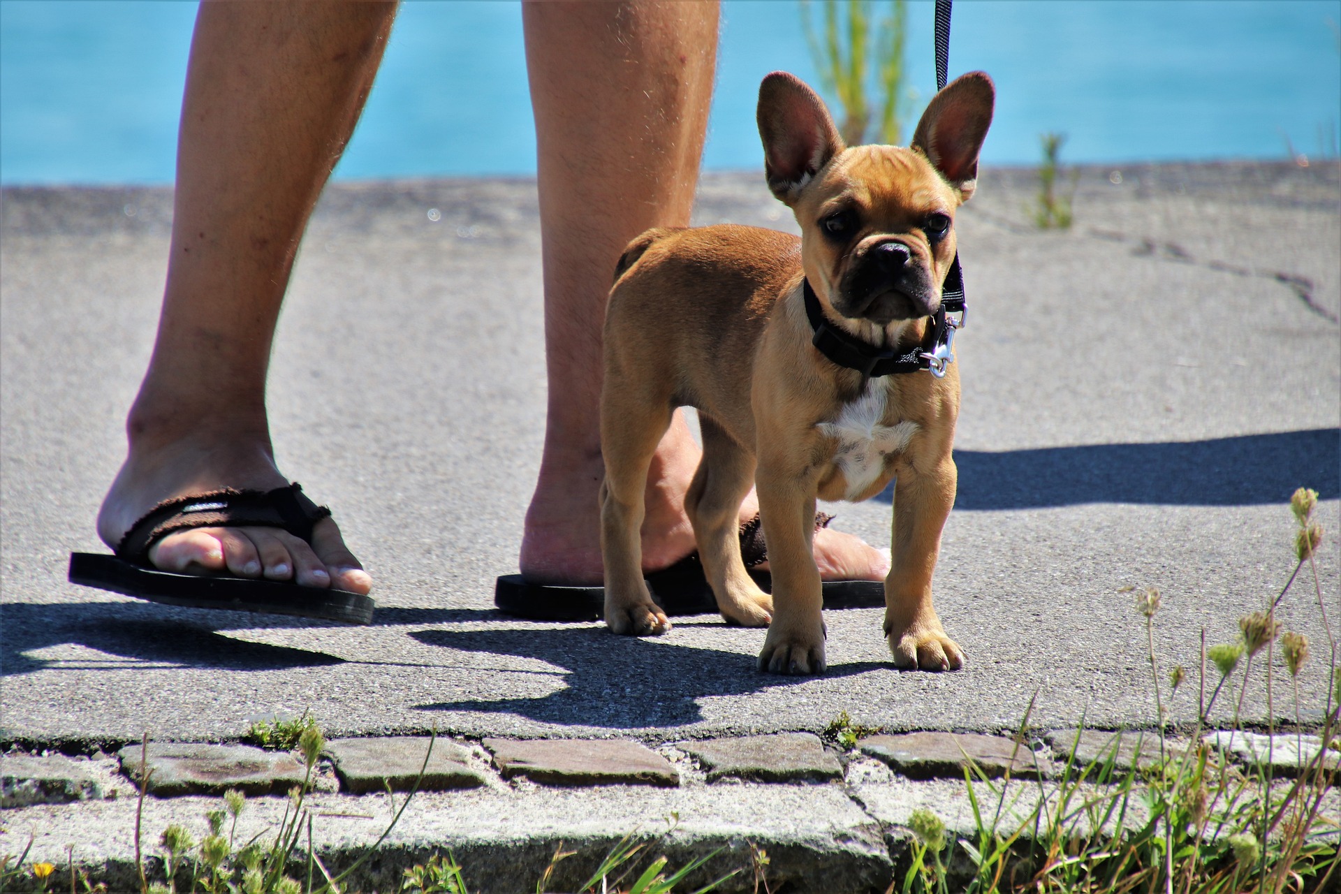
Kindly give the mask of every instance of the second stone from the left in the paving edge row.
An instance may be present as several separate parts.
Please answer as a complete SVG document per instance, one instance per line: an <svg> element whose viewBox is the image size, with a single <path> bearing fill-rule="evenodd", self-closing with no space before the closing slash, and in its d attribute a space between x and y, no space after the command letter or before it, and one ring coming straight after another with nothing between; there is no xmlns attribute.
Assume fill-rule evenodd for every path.
<svg viewBox="0 0 1341 894"><path fill-rule="evenodd" d="M139 784L139 745L118 752L121 769ZM251 745L149 743L149 791L160 796L217 795L229 788L247 795L287 792L303 781L303 764L288 752Z"/></svg>

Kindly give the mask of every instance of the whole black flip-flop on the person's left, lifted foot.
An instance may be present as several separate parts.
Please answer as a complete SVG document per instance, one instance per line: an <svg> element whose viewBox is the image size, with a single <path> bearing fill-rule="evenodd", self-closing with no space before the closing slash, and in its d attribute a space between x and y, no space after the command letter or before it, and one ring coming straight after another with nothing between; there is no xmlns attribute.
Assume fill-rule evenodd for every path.
<svg viewBox="0 0 1341 894"><path fill-rule="evenodd" d="M71 554L70 582L169 606L370 623L375 603L358 592L259 578L174 574L149 563L149 547L176 531L261 525L311 543L312 525L329 515L330 509L308 500L296 483L274 491L229 489L168 500L131 525L115 555Z"/></svg>

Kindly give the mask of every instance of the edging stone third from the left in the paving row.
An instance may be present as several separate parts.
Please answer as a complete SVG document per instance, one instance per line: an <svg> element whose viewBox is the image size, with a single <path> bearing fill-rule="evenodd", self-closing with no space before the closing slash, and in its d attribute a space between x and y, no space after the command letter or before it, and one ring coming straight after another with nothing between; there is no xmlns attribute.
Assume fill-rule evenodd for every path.
<svg viewBox="0 0 1341 894"><path fill-rule="evenodd" d="M337 739L326 743L326 753L335 764L335 775L346 792L392 789L406 792L414 788L420 769L420 791L447 788L477 788L484 776L471 767L471 752L445 739L433 740L433 755L424 767L428 736L394 736L375 739Z"/></svg>

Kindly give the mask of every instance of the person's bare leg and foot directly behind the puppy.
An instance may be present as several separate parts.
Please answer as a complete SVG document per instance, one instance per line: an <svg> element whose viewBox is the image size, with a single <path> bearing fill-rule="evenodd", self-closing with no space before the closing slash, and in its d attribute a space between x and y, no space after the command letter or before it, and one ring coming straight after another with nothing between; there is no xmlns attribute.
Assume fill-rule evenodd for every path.
<svg viewBox="0 0 1341 894"><path fill-rule="evenodd" d="M535 583L599 583L601 331L614 263L649 227L685 227L712 99L717 3L527 3L550 382L544 453L520 566ZM693 550L684 500L699 448L677 413L648 474L646 570ZM748 497L742 516L758 511ZM888 560L821 531L825 578L882 580Z"/></svg>

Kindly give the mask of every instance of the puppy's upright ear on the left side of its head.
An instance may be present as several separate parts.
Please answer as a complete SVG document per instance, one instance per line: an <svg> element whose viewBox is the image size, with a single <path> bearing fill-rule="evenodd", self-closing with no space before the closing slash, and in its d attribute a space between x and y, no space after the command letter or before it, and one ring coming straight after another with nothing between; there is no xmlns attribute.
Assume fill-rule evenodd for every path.
<svg viewBox="0 0 1341 894"><path fill-rule="evenodd" d="M759 137L768 189L787 205L795 205L810 178L843 150L823 101L786 71L759 84Z"/></svg>

